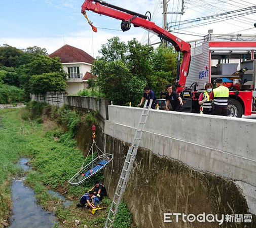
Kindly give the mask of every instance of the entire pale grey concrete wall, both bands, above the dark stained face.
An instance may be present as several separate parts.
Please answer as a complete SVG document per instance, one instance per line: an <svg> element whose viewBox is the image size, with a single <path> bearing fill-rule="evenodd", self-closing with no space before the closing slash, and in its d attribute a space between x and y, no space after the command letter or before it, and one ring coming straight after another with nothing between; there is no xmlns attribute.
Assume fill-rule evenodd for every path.
<svg viewBox="0 0 256 228"><path fill-rule="evenodd" d="M131 143L141 110L109 105L105 134ZM252 120L151 110L140 146L256 186L255 129Z"/></svg>

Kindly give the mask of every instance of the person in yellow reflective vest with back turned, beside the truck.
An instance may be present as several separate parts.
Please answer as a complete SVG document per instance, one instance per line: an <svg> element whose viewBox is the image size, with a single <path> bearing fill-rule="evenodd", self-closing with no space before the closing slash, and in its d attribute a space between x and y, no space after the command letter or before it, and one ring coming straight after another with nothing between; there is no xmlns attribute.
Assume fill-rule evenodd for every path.
<svg viewBox="0 0 256 228"><path fill-rule="evenodd" d="M212 90L210 100L213 99L214 110L213 115L217 116L228 116L228 99L229 99L229 88L222 85L222 78L217 78L213 81L216 88Z"/></svg>

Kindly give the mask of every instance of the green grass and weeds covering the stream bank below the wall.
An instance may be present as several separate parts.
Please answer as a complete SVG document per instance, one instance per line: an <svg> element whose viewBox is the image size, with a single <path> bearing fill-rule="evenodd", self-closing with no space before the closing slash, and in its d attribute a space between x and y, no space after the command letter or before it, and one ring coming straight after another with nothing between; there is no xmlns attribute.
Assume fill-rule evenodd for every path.
<svg viewBox="0 0 256 228"><path fill-rule="evenodd" d="M56 122L51 121L51 117ZM7 219L11 210L12 177L21 175L21 170L15 163L20 157L27 157L31 159L33 169L27 172L25 182L34 189L37 202L43 208L55 211L61 226L76 227L74 220L78 219L82 226L87 224L88 227L102 227L111 200L103 199L104 209L94 215L90 210L77 208L76 204L81 195L94 185L95 180L102 180L103 173L100 172L79 187L68 184L68 179L78 171L84 161L82 153L75 147L76 141L72 138L78 130L81 118L66 107L57 109L35 103L26 109L0 110L0 118L0 126L4 126L0 128L0 220ZM65 133L60 128L64 122L69 128ZM61 140L64 135L69 137ZM53 136L60 137L60 140L55 141ZM64 208L61 200L48 194L48 189L64 194L74 203ZM130 227L130 224L131 213L122 203L115 227Z"/></svg>

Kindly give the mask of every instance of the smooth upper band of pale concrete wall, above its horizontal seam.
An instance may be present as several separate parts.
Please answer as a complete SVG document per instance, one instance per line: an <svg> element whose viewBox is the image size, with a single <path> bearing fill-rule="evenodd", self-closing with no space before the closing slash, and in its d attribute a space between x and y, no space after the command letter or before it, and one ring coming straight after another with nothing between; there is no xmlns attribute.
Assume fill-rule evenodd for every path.
<svg viewBox="0 0 256 228"><path fill-rule="evenodd" d="M141 110L108 105L108 120L136 128ZM248 119L151 110L144 130L256 160L255 127Z"/></svg>

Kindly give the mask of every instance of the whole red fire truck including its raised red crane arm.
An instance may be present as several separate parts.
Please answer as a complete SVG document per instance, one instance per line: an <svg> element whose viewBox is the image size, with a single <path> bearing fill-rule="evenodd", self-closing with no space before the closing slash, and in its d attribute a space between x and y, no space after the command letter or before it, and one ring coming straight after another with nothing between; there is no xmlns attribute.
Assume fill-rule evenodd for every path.
<svg viewBox="0 0 256 228"><path fill-rule="evenodd" d="M216 78L223 78L230 89L229 116L242 117L243 114L256 113L255 36L209 33L202 40L187 43L157 26L148 16L100 0L86 0L82 5L85 16L86 10L121 20L123 31L128 31L131 24L151 31L171 43L177 52L183 53L182 63L178 67L176 91L184 100L184 111L198 111L197 100L204 91L204 85ZM159 99L158 102L161 101L163 104L164 100Z"/></svg>

